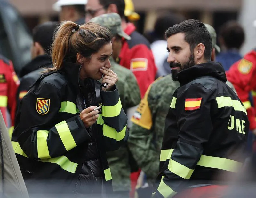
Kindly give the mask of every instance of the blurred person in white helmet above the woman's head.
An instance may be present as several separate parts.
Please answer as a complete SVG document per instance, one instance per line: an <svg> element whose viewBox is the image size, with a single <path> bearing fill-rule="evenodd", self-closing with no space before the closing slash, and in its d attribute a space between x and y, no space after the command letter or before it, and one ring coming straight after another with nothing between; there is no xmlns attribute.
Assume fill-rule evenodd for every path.
<svg viewBox="0 0 256 198"><path fill-rule="evenodd" d="M84 24L87 0L58 0L53 4L53 10L59 12L59 21L73 21Z"/></svg>

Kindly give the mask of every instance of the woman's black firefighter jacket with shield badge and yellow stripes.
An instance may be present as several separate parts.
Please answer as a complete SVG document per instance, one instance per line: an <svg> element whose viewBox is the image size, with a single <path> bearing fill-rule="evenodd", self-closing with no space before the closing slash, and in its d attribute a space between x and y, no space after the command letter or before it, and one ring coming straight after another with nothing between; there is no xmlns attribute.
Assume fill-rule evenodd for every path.
<svg viewBox="0 0 256 198"><path fill-rule="evenodd" d="M79 70L64 62L39 77L21 100L12 145L30 193L100 197L112 190L106 151L127 141L127 117L116 86L105 92L98 81L81 82ZM102 107L100 117L85 128L79 113L93 105Z"/></svg>

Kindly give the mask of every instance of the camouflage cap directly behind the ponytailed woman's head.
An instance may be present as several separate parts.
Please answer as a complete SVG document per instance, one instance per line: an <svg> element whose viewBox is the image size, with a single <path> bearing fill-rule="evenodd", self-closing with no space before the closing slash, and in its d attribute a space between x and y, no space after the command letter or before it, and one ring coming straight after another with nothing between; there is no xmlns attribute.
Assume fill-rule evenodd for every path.
<svg viewBox="0 0 256 198"><path fill-rule="evenodd" d="M121 17L117 13L102 14L98 17L92 18L90 22L98 23L104 27L107 27L113 35L118 34L127 40L131 39L129 35L124 33L121 26Z"/></svg>

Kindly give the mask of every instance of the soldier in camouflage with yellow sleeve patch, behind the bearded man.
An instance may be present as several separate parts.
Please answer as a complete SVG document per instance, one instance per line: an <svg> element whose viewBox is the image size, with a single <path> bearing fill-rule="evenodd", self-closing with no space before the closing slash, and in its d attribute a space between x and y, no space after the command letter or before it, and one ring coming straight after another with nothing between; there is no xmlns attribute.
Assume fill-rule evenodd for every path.
<svg viewBox="0 0 256 198"><path fill-rule="evenodd" d="M212 61L214 61L217 48L216 32L212 26L207 25L206 27L213 37ZM227 84L231 88L233 87L231 83L227 82ZM159 172L165 118L172 101L172 95L179 86L180 84L173 81L170 74L158 78L148 88L132 116L133 125L130 129L128 145L139 167L146 174L150 185L153 185ZM232 89L235 91L234 87Z"/></svg>

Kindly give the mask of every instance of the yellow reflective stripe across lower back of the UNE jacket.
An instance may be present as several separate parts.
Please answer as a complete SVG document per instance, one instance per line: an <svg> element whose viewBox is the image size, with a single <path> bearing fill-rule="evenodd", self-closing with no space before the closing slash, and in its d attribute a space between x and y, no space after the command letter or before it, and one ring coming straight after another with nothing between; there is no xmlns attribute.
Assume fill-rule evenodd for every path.
<svg viewBox="0 0 256 198"><path fill-rule="evenodd" d="M237 162L232 159L201 155L201 158L197 165L208 168L218 168L221 170L237 172L238 168L241 167L243 163Z"/></svg>

